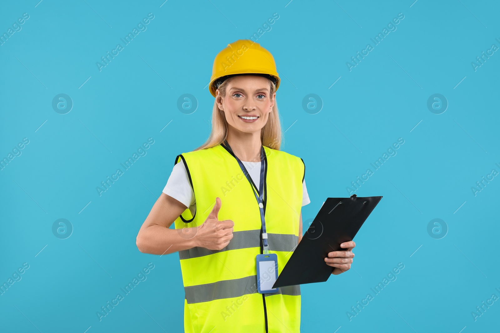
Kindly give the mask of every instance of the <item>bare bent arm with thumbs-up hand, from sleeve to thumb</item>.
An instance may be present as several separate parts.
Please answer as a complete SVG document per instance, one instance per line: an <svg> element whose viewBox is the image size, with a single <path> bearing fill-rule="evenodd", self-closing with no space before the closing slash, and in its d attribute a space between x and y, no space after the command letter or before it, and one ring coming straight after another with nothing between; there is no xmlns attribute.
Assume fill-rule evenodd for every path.
<svg viewBox="0 0 500 333"><path fill-rule="evenodd" d="M220 199L217 198L210 215L199 227L168 229L187 207L161 193L140 227L135 244L140 252L155 255L174 253L196 246L220 250L232 238L234 226L231 220L218 221L220 206Z"/></svg>

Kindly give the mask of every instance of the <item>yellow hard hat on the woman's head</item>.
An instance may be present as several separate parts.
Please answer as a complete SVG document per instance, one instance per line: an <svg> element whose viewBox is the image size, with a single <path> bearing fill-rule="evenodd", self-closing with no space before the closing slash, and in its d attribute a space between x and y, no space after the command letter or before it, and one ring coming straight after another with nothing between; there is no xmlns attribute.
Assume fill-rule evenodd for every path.
<svg viewBox="0 0 500 333"><path fill-rule="evenodd" d="M234 75L256 74L269 78L279 87L279 76L272 54L250 39L239 39L227 44L213 60L209 89L213 97L215 90L226 78Z"/></svg>

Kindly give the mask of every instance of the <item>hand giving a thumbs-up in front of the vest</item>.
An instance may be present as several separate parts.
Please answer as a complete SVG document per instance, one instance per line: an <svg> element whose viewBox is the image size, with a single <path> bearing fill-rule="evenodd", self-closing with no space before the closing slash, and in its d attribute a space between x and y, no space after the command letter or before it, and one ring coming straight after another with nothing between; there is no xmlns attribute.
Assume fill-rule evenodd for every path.
<svg viewBox="0 0 500 333"><path fill-rule="evenodd" d="M208 250L222 250L232 238L234 222L231 220L218 220L217 215L221 206L220 199L216 198L212 211L205 222L196 230L195 238L197 243Z"/></svg>

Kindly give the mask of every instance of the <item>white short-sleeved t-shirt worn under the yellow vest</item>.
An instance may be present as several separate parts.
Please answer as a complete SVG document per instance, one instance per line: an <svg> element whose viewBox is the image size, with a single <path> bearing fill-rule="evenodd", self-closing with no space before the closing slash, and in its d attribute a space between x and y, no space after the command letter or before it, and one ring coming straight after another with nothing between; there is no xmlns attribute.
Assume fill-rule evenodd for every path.
<svg viewBox="0 0 500 333"><path fill-rule="evenodd" d="M241 161L245 166L248 174L258 188L260 184L260 161L259 162L245 162ZM173 166L172 173L166 182L163 193L180 201L184 206L188 207L191 214L194 214L196 201L194 193L187 177L187 171L182 161L179 161ZM310 203L307 188L305 187L305 179L302 182L302 206Z"/></svg>

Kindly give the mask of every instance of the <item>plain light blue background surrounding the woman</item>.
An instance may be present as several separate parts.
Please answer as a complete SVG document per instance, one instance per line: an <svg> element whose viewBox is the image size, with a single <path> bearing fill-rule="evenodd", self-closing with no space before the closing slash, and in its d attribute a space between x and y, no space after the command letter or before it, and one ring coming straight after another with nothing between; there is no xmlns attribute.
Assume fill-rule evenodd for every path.
<svg viewBox="0 0 500 333"><path fill-rule="evenodd" d="M209 134L213 97L205 86L215 55L275 12L279 18L257 42L273 54L282 79L281 149L306 165L304 232L326 197L348 196L350 182L404 139L355 192L383 199L354 239L352 269L301 287L301 332L498 328L500 301L476 321L471 312L500 297L500 177L476 196L471 187L500 171L500 52L476 71L471 61L500 46L500 6L288 1L2 3L1 33L29 14L0 46L1 158L29 139L0 171L0 282L29 264L0 296L2 332L182 331L178 256L142 254L135 237L175 156ZM96 61L149 12L147 29L99 71ZM346 61L398 13L397 29L349 71ZM74 103L67 114L51 107L59 93ZM184 93L197 99L192 114L177 109ZM317 114L302 109L309 93L322 100ZM442 114L427 109L434 93L449 103ZM100 182L150 137L147 155L99 196ZM51 231L60 218L74 228L64 240ZM434 218L449 229L442 239L427 233ZM147 280L99 322L100 307L150 262ZM370 287L398 263L397 280L349 321L346 312L373 296Z"/></svg>

